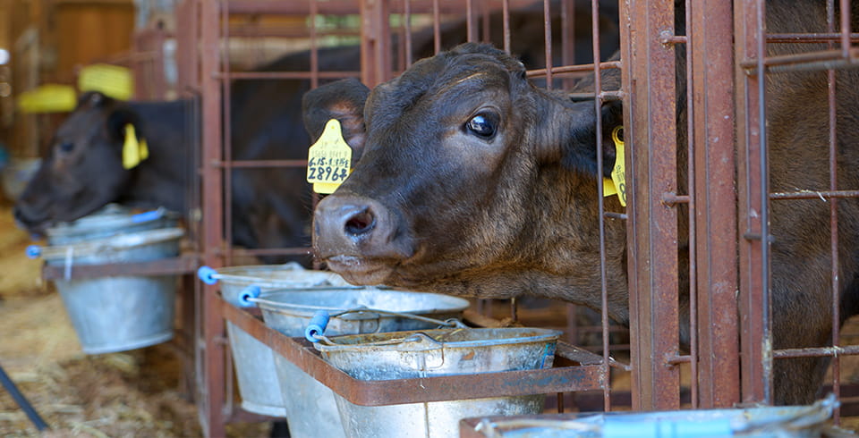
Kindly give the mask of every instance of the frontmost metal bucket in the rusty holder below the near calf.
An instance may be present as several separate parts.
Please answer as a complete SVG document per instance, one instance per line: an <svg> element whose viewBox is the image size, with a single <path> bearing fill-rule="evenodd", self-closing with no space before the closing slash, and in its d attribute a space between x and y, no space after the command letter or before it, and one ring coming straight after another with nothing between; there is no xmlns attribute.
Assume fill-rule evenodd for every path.
<svg viewBox="0 0 859 438"><path fill-rule="evenodd" d="M331 338L314 344L322 357L361 380L392 380L540 369L552 366L556 330L443 329ZM458 436L459 420L542 412L545 395L358 406L336 396L350 438Z"/></svg>

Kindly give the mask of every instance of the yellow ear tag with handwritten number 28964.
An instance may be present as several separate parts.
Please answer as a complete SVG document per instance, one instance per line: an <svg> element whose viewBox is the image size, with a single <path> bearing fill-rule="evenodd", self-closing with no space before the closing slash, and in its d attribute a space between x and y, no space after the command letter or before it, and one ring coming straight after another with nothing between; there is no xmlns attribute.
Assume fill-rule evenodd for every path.
<svg viewBox="0 0 859 438"><path fill-rule="evenodd" d="M340 122L331 119L308 151L307 181L317 193L334 193L349 176L351 164L352 147L343 139Z"/></svg>

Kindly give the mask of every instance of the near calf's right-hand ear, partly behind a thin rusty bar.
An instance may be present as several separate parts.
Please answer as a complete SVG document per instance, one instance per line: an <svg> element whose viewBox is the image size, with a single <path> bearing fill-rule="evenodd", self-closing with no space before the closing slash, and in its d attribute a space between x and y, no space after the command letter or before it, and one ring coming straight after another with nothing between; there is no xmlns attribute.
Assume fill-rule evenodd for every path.
<svg viewBox="0 0 859 438"><path fill-rule="evenodd" d="M567 168L610 178L617 156L612 132L623 127L623 106L609 101L600 108L602 130L602 169L597 169L597 115L593 101L575 102L555 112L561 139L559 150L543 151L544 156L559 159ZM560 120L557 120L560 119ZM556 126L558 126L556 125ZM620 140L623 140L622 134ZM551 161L551 160L549 160Z"/></svg>

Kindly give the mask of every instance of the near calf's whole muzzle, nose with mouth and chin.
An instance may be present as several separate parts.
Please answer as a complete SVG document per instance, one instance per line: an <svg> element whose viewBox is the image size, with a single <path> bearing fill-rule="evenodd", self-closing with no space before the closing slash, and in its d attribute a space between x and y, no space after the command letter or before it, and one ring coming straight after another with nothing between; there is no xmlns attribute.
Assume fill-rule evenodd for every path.
<svg viewBox="0 0 859 438"><path fill-rule="evenodd" d="M374 199L334 194L316 207L313 248L346 280L378 284L414 254L403 228L396 215Z"/></svg>

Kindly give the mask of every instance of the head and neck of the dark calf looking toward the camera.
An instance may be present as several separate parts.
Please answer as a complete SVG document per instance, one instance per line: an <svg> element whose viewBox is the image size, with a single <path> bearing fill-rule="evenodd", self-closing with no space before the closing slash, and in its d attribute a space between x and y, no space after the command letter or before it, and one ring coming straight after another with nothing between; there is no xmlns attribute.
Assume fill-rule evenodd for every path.
<svg viewBox="0 0 859 438"><path fill-rule="evenodd" d="M477 44L414 63L366 102L362 87L343 80L305 95L312 138L335 117L362 149L314 216L313 245L332 270L356 284L510 296L539 273L573 287L562 279L576 277L573 265L575 282L599 287L597 181L615 148L606 136L598 169L595 125L619 125L619 104L598 112L536 88L522 63ZM620 209L616 198L607 206ZM623 228L608 236L620 271Z"/></svg>

